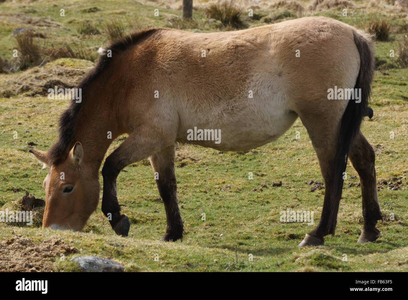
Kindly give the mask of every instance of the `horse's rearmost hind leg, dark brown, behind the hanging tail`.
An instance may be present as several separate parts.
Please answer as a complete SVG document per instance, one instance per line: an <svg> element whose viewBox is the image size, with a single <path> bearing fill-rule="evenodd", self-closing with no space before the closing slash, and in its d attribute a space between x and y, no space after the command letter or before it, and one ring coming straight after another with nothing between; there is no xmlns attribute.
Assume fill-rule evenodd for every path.
<svg viewBox="0 0 408 300"><path fill-rule="evenodd" d="M377 197L375 153L361 131L352 147L350 147L348 158L360 176L361 194L363 196L364 225L358 242L372 242L380 235L380 231L375 228L375 224L382 216Z"/></svg>

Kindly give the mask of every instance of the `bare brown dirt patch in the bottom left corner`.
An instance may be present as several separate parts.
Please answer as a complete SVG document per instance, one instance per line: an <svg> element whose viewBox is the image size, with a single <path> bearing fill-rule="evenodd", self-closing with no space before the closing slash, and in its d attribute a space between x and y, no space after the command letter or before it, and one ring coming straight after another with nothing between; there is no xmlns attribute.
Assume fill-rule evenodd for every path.
<svg viewBox="0 0 408 300"><path fill-rule="evenodd" d="M0 271L50 272L53 271L53 258L65 259L65 255L77 252L77 248L58 238L35 244L18 235L0 242Z"/></svg>

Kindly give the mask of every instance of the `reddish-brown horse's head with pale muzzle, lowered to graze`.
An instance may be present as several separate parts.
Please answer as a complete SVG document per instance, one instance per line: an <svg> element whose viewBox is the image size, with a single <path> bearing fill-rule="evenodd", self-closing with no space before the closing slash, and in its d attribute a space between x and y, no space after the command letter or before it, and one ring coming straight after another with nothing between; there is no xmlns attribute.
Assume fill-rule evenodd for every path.
<svg viewBox="0 0 408 300"><path fill-rule="evenodd" d="M91 176L82 161L82 145L77 142L58 163L51 162L47 152L29 152L50 168L43 182L46 200L42 228L82 230L98 206L100 189L98 174Z"/></svg>

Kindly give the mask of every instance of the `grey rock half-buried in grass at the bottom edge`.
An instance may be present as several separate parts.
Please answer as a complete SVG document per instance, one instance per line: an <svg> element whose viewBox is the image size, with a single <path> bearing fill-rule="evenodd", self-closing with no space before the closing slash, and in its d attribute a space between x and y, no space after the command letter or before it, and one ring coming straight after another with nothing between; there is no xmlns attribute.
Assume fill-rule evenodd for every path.
<svg viewBox="0 0 408 300"><path fill-rule="evenodd" d="M82 272L123 272L125 267L119 262L99 256L77 256L71 259Z"/></svg>

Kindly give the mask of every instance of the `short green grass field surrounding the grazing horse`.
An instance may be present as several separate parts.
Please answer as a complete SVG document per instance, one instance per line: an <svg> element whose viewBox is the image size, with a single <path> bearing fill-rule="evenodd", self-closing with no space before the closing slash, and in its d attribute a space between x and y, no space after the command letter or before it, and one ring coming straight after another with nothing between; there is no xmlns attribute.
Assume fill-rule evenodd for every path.
<svg viewBox="0 0 408 300"><path fill-rule="evenodd" d="M123 22L131 18L140 27L179 27L203 32L228 29L218 22L208 22L204 13L206 1L194 1L197 7L190 22L180 18L181 11L177 9L180 1L177 5L168 2L5 1L0 3L0 57L12 57L16 44L12 32L16 27L41 31L47 37L41 42L49 47L82 44L94 52L109 43L103 33L104 20L109 18ZM376 150L377 181L401 180L397 190L379 184L380 204L384 201L395 204L390 204L391 208L382 207L384 219L378 222L381 236L377 241L356 243L363 225L361 189L357 186L357 172L350 164L336 234L326 236L324 246L297 248L314 226L279 221L279 212L290 209L313 211L317 224L323 204L325 190L312 192L313 185L307 184L323 179L306 129L298 119L277 141L248 153L178 146L178 198L185 226L182 242L158 241L165 231L166 214L146 160L126 167L117 181L119 202L126 205L123 212L131 222L129 237L114 235L99 205L84 232L0 223L0 247L7 247L4 241L22 235L34 243L58 238L78 248L77 253L64 260L60 255L44 258L55 271L77 271L69 259L78 255L110 258L124 264L126 271L408 271L408 72L399 66L398 55L389 56L390 50L397 51L407 34L407 13L386 2L373 5L369 1L355 1L354 7L348 8L348 17L343 17L342 7L314 11L307 9L311 2L299 1L305 11L292 11L291 16L275 22L323 15L356 27L380 18L387 18L391 24L389 40L376 43L376 58L381 63L375 73L370 103L374 117L366 118L362 124L363 133ZM98 9L89 10L93 7ZM282 11L262 2L258 7L254 12L264 17ZM60 17L61 8L65 8L65 17ZM154 9L159 9L159 17L153 15ZM242 9L246 11L247 7ZM27 23L29 18L31 22ZM265 18L244 22L247 27L254 27L266 24L262 20ZM78 34L78 27L86 21L93 22L101 33ZM41 89L48 80L75 84L92 66L93 62L88 60L60 58L26 71L0 74L1 210L16 207L16 200L25 189L37 198L45 198L42 181L48 169L42 170L42 164L23 147L34 143L35 148L47 150L57 138L58 116L69 102L49 100L40 93L29 94ZM30 90L21 89L24 85L29 85ZM106 156L124 138L115 140ZM253 179L248 179L250 172ZM102 177L100 182L102 187ZM282 185L274 187L273 183L278 182ZM223 189L226 186L231 187Z"/></svg>

